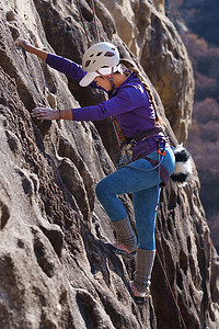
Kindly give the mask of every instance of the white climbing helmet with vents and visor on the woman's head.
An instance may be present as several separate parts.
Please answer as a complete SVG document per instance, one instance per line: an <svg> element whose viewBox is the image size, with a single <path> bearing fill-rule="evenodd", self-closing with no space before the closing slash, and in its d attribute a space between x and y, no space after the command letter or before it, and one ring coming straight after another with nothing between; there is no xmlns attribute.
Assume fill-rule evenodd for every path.
<svg viewBox="0 0 219 329"><path fill-rule="evenodd" d="M81 87L89 86L95 77L111 75L119 69L119 53L111 43L99 43L91 46L82 59L83 70L87 75L79 82ZM97 72L99 71L99 72Z"/></svg>

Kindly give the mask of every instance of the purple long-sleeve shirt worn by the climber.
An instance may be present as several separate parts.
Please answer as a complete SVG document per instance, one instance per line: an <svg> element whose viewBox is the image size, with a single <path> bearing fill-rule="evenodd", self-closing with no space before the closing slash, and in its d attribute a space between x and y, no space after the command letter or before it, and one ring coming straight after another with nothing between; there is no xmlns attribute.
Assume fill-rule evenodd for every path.
<svg viewBox="0 0 219 329"><path fill-rule="evenodd" d="M48 54L46 63L56 70L80 81L85 72L82 66L64 57ZM91 87L97 88L93 81ZM74 121L100 121L115 116L126 137L131 137L145 131L155 127L155 113L149 97L135 73L118 87L115 92L108 93L108 100L97 105L72 109ZM159 133L155 137L161 137ZM135 147L137 154L149 152L158 148L154 138L139 143Z"/></svg>

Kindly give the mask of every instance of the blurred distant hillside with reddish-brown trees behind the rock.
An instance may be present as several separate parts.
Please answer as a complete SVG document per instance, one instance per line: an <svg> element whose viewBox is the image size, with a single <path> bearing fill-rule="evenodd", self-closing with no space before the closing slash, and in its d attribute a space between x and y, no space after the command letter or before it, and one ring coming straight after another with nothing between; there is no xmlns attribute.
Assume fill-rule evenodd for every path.
<svg viewBox="0 0 219 329"><path fill-rule="evenodd" d="M187 148L196 161L200 198L219 251L219 5L217 0L166 1L193 63L195 103Z"/></svg>

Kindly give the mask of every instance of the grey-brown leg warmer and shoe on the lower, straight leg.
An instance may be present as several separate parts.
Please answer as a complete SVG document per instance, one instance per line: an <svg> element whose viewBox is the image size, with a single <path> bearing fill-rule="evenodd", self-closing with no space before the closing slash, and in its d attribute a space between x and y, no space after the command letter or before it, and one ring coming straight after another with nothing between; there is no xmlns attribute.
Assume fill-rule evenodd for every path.
<svg viewBox="0 0 219 329"><path fill-rule="evenodd" d="M155 258L155 250L138 249L136 256L136 271L131 283L135 302L142 305L150 296L150 279Z"/></svg>

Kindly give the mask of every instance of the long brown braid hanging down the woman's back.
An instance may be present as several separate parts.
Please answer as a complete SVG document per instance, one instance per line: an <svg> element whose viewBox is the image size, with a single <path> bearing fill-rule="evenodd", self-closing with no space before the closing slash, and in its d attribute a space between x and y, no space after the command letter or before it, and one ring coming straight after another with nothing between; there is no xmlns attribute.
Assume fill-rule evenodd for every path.
<svg viewBox="0 0 219 329"><path fill-rule="evenodd" d="M143 76L141 75L140 70L137 68L137 66L129 59L127 58L123 58L119 60L119 64L122 66L124 66L125 68L127 68L128 70L132 71L136 77L140 80L140 82L143 84L143 88L146 90L146 92L148 93L149 100L154 109L155 112L155 123L160 123L160 125L163 127L164 126L164 122L163 120L160 117L160 115L158 114L157 111L157 105L155 105L155 100L154 97L152 94L152 91L150 89L150 87L148 86L146 79L143 78ZM124 73L126 73L126 71L123 71Z"/></svg>

